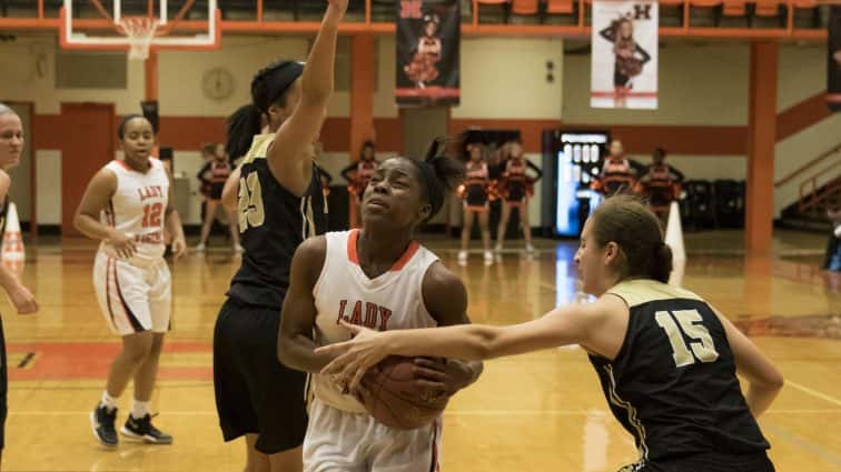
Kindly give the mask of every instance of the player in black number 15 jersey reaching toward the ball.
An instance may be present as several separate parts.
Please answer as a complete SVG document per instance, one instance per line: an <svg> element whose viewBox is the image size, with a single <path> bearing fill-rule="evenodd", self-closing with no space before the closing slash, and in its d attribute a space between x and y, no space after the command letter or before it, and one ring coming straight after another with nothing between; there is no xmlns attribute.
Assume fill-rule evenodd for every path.
<svg viewBox="0 0 841 472"><path fill-rule="evenodd" d="M594 303L512 327L377 333L348 325L353 341L316 355L345 352L323 372L358 382L389 354L491 359L577 343L636 440L640 460L622 471L773 471L755 418L783 379L725 317L665 283L672 253L656 217L633 198L606 200L584 224L575 262ZM736 372L749 382L746 395Z"/></svg>

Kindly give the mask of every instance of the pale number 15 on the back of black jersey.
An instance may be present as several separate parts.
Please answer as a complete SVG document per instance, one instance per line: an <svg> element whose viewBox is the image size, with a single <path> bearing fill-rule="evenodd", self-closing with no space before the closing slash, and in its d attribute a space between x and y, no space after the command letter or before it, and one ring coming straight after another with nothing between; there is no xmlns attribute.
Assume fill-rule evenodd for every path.
<svg viewBox="0 0 841 472"><path fill-rule="evenodd" d="M710 331L701 324L704 320L697 310L659 311L654 319L657 320L660 328L666 332L669 343L672 344L674 363L679 368L694 364L695 359L700 362L715 362L719 359L719 352L715 351ZM681 328L677 328L674 320L677 320L677 323L681 324L686 337L692 339L689 345L683 339Z"/></svg>

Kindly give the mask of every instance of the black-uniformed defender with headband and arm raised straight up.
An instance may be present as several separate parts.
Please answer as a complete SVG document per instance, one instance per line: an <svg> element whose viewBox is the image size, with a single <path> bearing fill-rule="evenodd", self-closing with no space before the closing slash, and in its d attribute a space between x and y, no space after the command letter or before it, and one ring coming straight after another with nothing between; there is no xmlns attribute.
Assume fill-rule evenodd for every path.
<svg viewBox="0 0 841 472"><path fill-rule="evenodd" d="M284 61L259 71L251 104L228 123L228 153L245 159L222 202L238 195L245 255L216 321L214 382L225 440L246 436L247 472L301 469L307 376L278 362L277 332L295 249L327 229L314 142L333 93L346 9L347 0L330 0L306 66ZM259 134L264 120L268 132Z"/></svg>

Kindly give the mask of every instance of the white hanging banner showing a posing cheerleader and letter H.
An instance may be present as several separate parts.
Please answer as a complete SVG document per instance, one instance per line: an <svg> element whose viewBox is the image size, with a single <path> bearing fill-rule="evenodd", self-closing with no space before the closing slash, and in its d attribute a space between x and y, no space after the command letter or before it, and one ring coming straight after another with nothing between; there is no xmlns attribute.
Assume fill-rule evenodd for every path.
<svg viewBox="0 0 841 472"><path fill-rule="evenodd" d="M657 108L656 1L594 0L590 106Z"/></svg>

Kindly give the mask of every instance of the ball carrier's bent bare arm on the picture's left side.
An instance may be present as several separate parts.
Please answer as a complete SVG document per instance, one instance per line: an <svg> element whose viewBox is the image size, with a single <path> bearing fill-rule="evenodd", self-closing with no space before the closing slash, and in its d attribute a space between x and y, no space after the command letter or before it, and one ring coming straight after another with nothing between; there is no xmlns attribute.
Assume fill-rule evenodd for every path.
<svg viewBox="0 0 841 472"><path fill-rule="evenodd" d="M280 314L280 331L277 335L277 359L293 369L318 372L334 358L315 353L313 329L317 310L313 288L324 268L327 240L315 237L304 241L291 262L289 290L286 292Z"/></svg>

